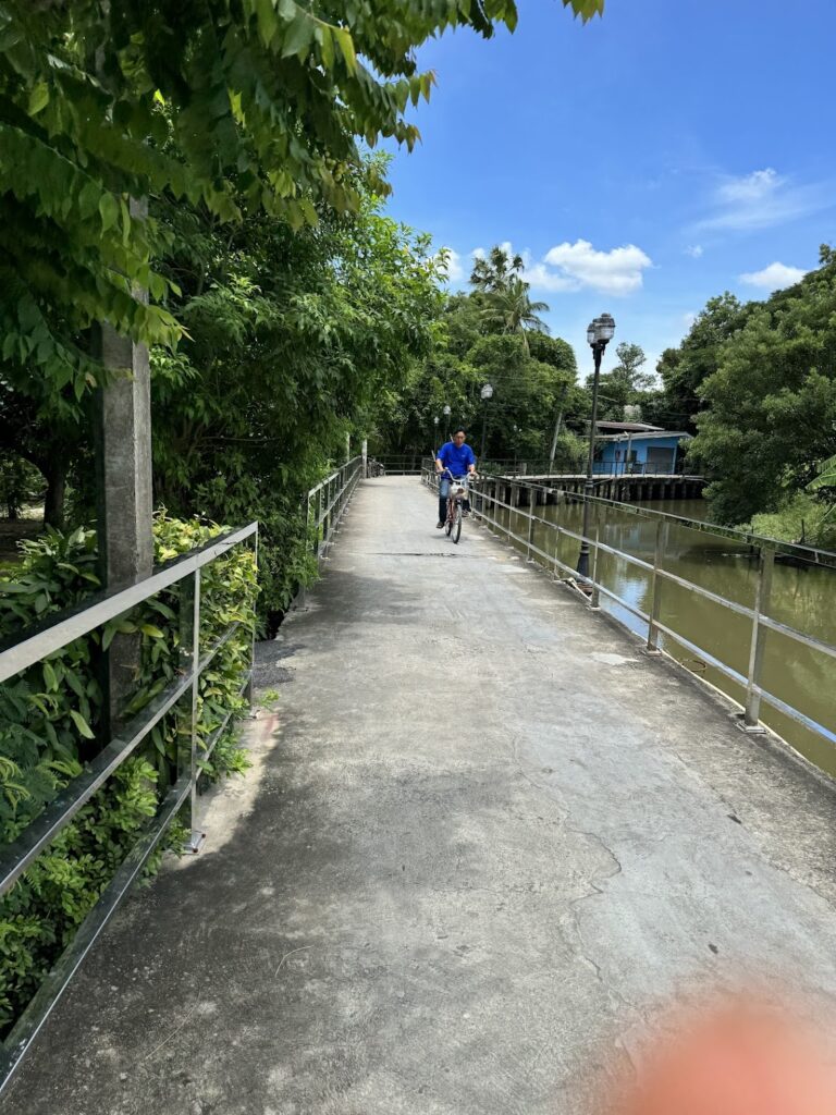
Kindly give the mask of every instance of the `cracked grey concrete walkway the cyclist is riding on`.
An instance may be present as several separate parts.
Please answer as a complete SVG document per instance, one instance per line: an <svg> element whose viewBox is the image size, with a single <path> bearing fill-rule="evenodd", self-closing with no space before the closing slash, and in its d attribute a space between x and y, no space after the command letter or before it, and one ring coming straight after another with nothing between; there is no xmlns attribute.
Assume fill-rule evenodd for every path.
<svg viewBox="0 0 836 1115"><path fill-rule="evenodd" d="M674 993L836 1000L836 797L417 479L262 647L278 714L12 1115L574 1115ZM619 1054L621 1050L621 1054Z"/></svg>

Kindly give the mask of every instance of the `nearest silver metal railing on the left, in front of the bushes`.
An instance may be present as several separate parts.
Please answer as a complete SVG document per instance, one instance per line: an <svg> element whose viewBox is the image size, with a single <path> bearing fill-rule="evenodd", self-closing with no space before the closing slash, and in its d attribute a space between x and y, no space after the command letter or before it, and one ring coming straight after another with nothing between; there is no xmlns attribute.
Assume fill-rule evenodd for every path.
<svg viewBox="0 0 836 1115"><path fill-rule="evenodd" d="M175 584L182 585L179 592L181 662L176 679L140 712L121 725L117 729L118 734L95 758L84 766L81 774L74 778L47 808L23 830L20 836L0 853L0 895L2 895L14 885L22 872L35 862L58 833L72 821L79 809L137 749L165 714L173 709L181 698L189 697L191 730L187 743L179 748L176 780L166 792L156 815L140 832L136 844L128 852L98 902L79 927L72 942L40 985L6 1040L0 1044L0 1092L4 1089L21 1058L26 1055L99 933L156 849L166 828L186 803L191 809L192 849L196 851L200 844L200 838L203 835L197 828L197 783L201 767L223 736L233 712L230 711L226 715L206 740L205 746L198 746L198 683L201 675L241 627L240 623L231 624L215 643L201 655L201 571L233 546L247 542L247 540L252 540L257 562L257 523L231 531L213 539L200 550L192 551L159 566L150 576L137 584L113 593L94 597L90 601L50 619L13 646L0 650L0 682L2 682L30 666L35 666L47 656L65 649L76 639L90 634L109 620L124 615L165 589ZM254 636L251 656L253 653ZM253 657L251 657L249 670L243 676L241 696L247 699L252 698L252 683Z"/></svg>

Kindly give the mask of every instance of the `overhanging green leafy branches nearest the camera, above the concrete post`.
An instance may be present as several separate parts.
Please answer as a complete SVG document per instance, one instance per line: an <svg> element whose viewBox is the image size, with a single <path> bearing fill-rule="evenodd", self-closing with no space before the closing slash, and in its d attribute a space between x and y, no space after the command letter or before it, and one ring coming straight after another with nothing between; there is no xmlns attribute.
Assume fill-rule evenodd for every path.
<svg viewBox="0 0 836 1115"><path fill-rule="evenodd" d="M563 2L584 19L603 7ZM514 0L2 0L2 358L80 396L101 375L84 342L93 322L173 343L152 265L165 231L130 197L168 193L221 221L243 205L294 229L319 204L357 209L360 140L418 138L405 113L434 75L416 48L516 18Z"/></svg>

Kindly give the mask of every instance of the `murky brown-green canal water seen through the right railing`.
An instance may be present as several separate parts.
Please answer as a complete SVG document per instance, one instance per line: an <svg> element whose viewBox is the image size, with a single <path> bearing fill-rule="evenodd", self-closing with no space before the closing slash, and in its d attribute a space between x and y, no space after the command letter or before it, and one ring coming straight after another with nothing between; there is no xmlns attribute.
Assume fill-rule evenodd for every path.
<svg viewBox="0 0 836 1115"><path fill-rule="evenodd" d="M654 511L704 521L701 500L642 504ZM580 505L537 507L541 518L580 531ZM508 524L511 512L500 510ZM601 541L653 562L657 521L606 507L600 520ZM527 520L513 514L511 529L526 537ZM535 524L534 545L555 553L556 532ZM579 544L562 537L556 556L574 568ZM542 560L542 559L538 559ZM719 535L671 523L662 566L718 595L751 608L758 576L757 554L750 547ZM651 610L651 574L626 560L602 554L597 580L645 614ZM795 568L776 564L767 614L805 634L836 644L836 569ZM638 636L647 638L647 623L616 601L601 594L601 607ZM660 620L703 651L746 676L751 643L751 620L670 581L661 581ZM708 661L667 636L663 649L692 672L742 704L743 690ZM822 731L811 731L793 718L761 702L761 719L819 767L836 775L836 659L780 634L767 631L761 685L780 700L815 720Z"/></svg>

